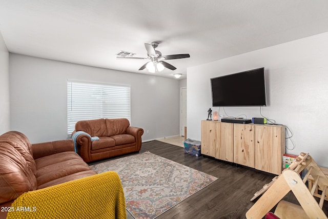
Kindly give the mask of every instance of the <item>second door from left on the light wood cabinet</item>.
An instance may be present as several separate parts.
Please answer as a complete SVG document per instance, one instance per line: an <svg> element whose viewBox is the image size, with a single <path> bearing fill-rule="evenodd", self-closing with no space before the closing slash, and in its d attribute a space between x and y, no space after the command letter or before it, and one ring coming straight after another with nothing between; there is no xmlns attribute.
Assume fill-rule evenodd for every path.
<svg viewBox="0 0 328 219"><path fill-rule="evenodd" d="M216 139L217 150L215 158L234 162L234 147L233 147L233 124L232 123L217 123Z"/></svg>

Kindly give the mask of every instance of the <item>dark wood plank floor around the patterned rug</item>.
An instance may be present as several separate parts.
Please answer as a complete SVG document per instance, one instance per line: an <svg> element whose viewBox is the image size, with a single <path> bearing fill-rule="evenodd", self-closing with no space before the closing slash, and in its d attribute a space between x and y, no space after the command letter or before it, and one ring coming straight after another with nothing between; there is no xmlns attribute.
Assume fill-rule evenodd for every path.
<svg viewBox="0 0 328 219"><path fill-rule="evenodd" d="M275 176L211 157L202 155L196 157L186 154L182 147L159 141L142 143L140 153L145 151L218 177L218 180L206 188L156 217L158 219L245 218L245 213L254 204L254 202L250 202L254 193L260 190L264 184L271 182ZM283 199L298 204L291 192ZM327 202L324 205L324 212L326 214L328 212Z"/></svg>

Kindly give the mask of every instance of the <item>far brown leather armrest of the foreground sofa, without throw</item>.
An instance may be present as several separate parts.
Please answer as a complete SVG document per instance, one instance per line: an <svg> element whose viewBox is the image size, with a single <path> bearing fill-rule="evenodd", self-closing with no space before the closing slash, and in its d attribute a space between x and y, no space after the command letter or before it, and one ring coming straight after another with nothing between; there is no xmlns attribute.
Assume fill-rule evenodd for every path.
<svg viewBox="0 0 328 219"><path fill-rule="evenodd" d="M37 159L64 151L74 151L74 143L71 139L54 142L32 144L33 158Z"/></svg>

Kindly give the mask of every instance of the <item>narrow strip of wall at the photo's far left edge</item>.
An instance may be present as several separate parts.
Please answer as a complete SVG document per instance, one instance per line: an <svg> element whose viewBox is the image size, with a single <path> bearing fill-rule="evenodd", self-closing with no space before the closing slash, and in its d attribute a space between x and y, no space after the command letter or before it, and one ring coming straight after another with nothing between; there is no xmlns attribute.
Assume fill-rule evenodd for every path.
<svg viewBox="0 0 328 219"><path fill-rule="evenodd" d="M0 33L0 135L9 130L9 52Z"/></svg>

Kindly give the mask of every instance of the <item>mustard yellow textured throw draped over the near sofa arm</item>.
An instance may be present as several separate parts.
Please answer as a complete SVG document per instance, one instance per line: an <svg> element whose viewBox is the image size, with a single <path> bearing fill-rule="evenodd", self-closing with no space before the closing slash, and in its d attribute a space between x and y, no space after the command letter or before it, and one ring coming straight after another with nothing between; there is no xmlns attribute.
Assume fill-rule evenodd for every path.
<svg viewBox="0 0 328 219"><path fill-rule="evenodd" d="M124 192L113 171L23 193L11 207L7 218L126 218Z"/></svg>

